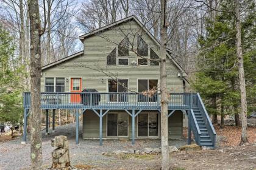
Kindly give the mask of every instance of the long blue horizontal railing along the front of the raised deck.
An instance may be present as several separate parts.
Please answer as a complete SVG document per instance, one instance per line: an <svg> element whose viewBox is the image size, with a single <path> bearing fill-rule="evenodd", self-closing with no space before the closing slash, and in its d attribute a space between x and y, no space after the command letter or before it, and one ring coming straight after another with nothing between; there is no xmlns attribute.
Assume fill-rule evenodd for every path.
<svg viewBox="0 0 256 170"><path fill-rule="evenodd" d="M168 106L172 109L190 109L192 94L172 93ZM160 94L144 95L140 93L95 93L95 92L43 92L41 109L158 109ZM24 93L24 107L30 108L30 92Z"/></svg>

